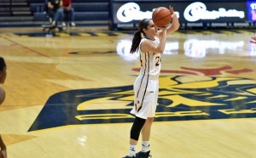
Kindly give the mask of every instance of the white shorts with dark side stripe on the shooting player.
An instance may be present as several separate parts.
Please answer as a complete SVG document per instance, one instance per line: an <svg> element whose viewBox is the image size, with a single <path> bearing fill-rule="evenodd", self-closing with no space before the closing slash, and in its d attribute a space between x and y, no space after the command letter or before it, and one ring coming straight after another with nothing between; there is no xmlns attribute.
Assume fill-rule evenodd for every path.
<svg viewBox="0 0 256 158"><path fill-rule="evenodd" d="M131 114L143 119L154 117L159 93L158 77L137 76L133 88L135 99Z"/></svg>

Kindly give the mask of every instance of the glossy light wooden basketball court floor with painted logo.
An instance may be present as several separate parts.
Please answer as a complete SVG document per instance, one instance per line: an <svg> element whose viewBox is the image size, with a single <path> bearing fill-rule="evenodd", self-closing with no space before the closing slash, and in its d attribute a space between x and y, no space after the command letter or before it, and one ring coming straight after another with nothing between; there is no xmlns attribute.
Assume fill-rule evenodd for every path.
<svg viewBox="0 0 256 158"><path fill-rule="evenodd" d="M0 133L9 158L127 155L133 31L1 29ZM153 158L256 157L254 30L177 31L162 55ZM137 150L141 149L139 141Z"/></svg>

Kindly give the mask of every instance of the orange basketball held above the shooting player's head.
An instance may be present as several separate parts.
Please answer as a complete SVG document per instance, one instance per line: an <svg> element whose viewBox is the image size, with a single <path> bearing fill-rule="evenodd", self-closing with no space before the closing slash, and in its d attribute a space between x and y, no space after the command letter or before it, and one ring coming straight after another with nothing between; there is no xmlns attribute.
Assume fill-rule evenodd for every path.
<svg viewBox="0 0 256 158"><path fill-rule="evenodd" d="M165 27L172 21L172 13L168 8L165 7L155 8L152 14L152 20L155 25Z"/></svg>

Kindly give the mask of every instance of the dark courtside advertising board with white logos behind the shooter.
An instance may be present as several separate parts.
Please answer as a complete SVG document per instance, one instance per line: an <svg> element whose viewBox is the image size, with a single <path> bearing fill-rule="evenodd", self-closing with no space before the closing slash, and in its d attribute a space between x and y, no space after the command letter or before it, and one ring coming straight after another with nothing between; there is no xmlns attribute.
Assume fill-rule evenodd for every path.
<svg viewBox="0 0 256 158"><path fill-rule="evenodd" d="M230 4L231 3L231 4ZM137 28L139 20L151 18L155 8L172 5L181 28L253 27L256 1L112 1L112 29Z"/></svg>

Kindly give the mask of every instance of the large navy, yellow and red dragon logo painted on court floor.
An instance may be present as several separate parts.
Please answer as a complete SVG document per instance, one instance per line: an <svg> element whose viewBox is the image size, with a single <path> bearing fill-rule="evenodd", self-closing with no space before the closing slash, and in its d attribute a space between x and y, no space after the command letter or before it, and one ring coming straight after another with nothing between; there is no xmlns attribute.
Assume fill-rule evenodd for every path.
<svg viewBox="0 0 256 158"><path fill-rule="evenodd" d="M256 117L256 81L219 76L251 70L162 71L155 121ZM138 69L134 69L138 71ZM133 86L77 89L52 95L28 131L79 124L132 122Z"/></svg>

